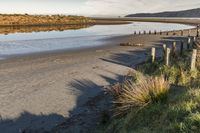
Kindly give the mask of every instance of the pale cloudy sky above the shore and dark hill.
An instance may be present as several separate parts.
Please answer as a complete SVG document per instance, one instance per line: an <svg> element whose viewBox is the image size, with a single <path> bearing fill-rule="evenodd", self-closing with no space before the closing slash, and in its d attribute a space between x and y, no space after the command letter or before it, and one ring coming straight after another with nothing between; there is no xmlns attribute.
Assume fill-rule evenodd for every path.
<svg viewBox="0 0 200 133"><path fill-rule="evenodd" d="M199 0L0 0L0 13L109 15L200 8Z"/></svg>

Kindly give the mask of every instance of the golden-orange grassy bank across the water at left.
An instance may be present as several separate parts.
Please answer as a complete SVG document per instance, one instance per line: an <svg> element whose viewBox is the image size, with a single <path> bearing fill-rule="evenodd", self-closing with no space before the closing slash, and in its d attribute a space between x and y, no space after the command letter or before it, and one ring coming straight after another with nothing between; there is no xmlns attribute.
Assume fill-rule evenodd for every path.
<svg viewBox="0 0 200 133"><path fill-rule="evenodd" d="M0 26L16 25L66 25L66 24L92 24L91 20L83 16L64 16L64 15L21 15L21 14L1 14Z"/></svg>

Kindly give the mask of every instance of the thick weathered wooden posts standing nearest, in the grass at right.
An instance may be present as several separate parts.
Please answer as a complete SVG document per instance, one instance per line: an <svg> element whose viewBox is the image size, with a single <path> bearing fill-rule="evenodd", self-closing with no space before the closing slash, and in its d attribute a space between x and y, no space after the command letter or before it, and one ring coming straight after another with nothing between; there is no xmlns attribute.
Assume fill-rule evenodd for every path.
<svg viewBox="0 0 200 133"><path fill-rule="evenodd" d="M193 38L193 43L191 44L191 38L188 38L187 41L187 50L191 49L191 45L194 44L195 42L195 37ZM176 50L176 42L173 42L172 44L172 48L168 48L166 44L163 44L163 59L165 62L166 66L170 66L170 57L171 56L175 56L177 55L177 50ZM181 41L181 45L180 45L180 55L183 55L183 51L184 51L184 41ZM196 69L196 58L197 58L197 50L193 49L192 50L192 55L191 55L191 65L190 65L190 69L191 71L194 71ZM151 61L152 63L154 63L156 60L156 48L152 48L151 49Z"/></svg>

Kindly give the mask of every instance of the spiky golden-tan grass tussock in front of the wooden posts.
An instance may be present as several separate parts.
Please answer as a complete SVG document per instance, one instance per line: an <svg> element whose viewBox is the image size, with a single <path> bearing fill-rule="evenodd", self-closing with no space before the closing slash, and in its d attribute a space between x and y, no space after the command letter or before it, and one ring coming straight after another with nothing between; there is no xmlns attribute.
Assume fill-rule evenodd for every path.
<svg viewBox="0 0 200 133"><path fill-rule="evenodd" d="M114 96L115 115L122 115L131 109L141 109L150 103L162 103L167 99L170 85L161 77L140 77L137 81L126 80L109 89Z"/></svg>

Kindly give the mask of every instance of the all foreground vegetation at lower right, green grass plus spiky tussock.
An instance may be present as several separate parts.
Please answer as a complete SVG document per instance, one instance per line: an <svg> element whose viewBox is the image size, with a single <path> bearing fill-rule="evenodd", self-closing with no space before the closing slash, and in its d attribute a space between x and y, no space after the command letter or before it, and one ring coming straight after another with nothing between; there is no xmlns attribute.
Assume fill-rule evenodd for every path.
<svg viewBox="0 0 200 133"><path fill-rule="evenodd" d="M98 132L199 133L200 70L190 71L190 54L170 67L162 60L141 65L139 74L110 88L114 115Z"/></svg>

